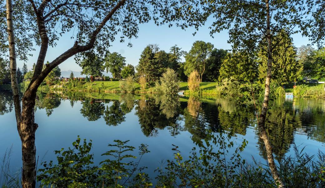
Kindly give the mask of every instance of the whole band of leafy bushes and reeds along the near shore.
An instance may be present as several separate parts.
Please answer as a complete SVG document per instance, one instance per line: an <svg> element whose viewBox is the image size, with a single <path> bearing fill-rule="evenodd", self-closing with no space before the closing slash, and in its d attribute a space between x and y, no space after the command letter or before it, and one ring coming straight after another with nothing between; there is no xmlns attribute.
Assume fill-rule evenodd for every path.
<svg viewBox="0 0 325 188"><path fill-rule="evenodd" d="M224 133L209 132L186 158L173 145L173 159L156 170L155 187L277 187L267 164L255 160L248 164L241 158L248 142L244 139L236 147L235 141ZM41 164L44 168L37 176L40 187L152 187L149 175L142 172L145 167L138 167L141 157L149 152L148 146L140 145L139 160L134 162L135 147L127 143L114 140L102 155L116 157L107 157L96 166L90 153L91 140L82 141L78 136L72 148L55 151L57 162ZM324 187L325 155L308 156L295 145L293 150L295 155L284 156L276 165L286 187Z"/></svg>

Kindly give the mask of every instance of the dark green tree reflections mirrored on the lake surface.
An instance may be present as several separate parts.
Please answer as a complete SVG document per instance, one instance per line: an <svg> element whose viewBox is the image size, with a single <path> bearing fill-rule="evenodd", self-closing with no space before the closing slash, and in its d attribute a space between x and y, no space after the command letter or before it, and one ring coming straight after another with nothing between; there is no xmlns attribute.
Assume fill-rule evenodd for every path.
<svg viewBox="0 0 325 188"><path fill-rule="evenodd" d="M75 108L81 103L80 113L88 121L103 118L109 126L126 121L126 114L134 113L139 128L147 137L158 136L159 130L167 129L176 137L187 131L196 143L202 143L209 132L226 131L229 135L245 136L248 127L255 129L260 155L266 158L266 148L258 135L256 117L251 105L240 105L228 99L202 100L195 97L136 96L131 94L100 96L97 99L81 93L37 93L37 109L45 109L50 116L61 100L70 100ZM103 99L99 99L103 98ZM79 106L79 105L78 105ZM13 110L11 93L0 92L0 115ZM78 110L78 109L73 109ZM293 101L278 99L270 103L266 134L276 159L282 158L294 143L295 135L306 135L325 143L325 100L294 98Z"/></svg>

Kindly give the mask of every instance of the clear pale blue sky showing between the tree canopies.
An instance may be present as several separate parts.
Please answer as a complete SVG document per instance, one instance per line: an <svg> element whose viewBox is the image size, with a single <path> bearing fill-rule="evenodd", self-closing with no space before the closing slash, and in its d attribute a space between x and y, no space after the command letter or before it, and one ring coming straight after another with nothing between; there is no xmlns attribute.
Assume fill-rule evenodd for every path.
<svg viewBox="0 0 325 188"><path fill-rule="evenodd" d="M137 65L140 58L140 54L143 49L148 44L158 44L161 50L169 51L170 47L175 44L182 50L189 51L191 49L192 43L196 40L203 40L205 42L211 42L217 49L231 49L231 45L227 43L228 33L223 31L221 33L216 33L214 38L209 34L209 23L201 27L195 36L192 33L195 31L194 28L188 28L187 30L182 30L178 27L169 28L168 25L157 26L153 22L139 25L138 38L132 38L131 43L133 47L127 46L128 41L120 43L119 37L116 36L116 41L112 43L109 48L110 52L121 53L126 58L126 64ZM57 56L59 56L64 51L72 47L74 41L70 39L71 33L65 34L59 41L57 41L57 46L54 48L49 47L45 61L52 61ZM295 34L293 37L293 43L296 47L301 45L309 44L308 38L302 37L300 34ZM29 69L32 68L33 63L36 62L38 56L39 48L33 52L33 56L29 58L26 62ZM18 61L17 66L22 67L23 62ZM81 67L77 65L73 57L69 58L65 62L59 65L62 71L72 70L81 71Z"/></svg>

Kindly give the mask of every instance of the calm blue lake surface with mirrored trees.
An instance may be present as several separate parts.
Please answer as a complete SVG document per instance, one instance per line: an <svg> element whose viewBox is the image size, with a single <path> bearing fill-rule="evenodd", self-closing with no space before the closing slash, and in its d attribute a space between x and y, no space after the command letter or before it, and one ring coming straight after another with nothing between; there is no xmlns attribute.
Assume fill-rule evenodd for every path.
<svg viewBox="0 0 325 188"><path fill-rule="evenodd" d="M258 136L252 105L239 105L223 98L138 96L118 94L38 94L35 107L36 154L38 160L56 160L54 150L72 146L79 135L93 141L98 163L113 140L130 140L128 145L149 145L141 165L153 173L166 159L173 159L172 144L188 156L209 132L225 131L235 144L245 139L241 153L248 162L266 164L266 151ZM294 145L309 155L325 152L325 100L293 98L270 103L266 129L275 159L293 155ZM0 93L0 156L12 146L10 164L21 168L18 136L11 93ZM216 148L217 149L217 148Z"/></svg>

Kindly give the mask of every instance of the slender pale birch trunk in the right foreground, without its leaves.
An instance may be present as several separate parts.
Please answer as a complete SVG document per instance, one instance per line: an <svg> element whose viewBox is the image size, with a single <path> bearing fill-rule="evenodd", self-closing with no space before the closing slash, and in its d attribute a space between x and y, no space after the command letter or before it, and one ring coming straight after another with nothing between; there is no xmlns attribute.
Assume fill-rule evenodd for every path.
<svg viewBox="0 0 325 188"><path fill-rule="evenodd" d="M266 73L266 81L265 81L265 93L264 93L264 102L262 105L262 111L259 116L258 120L258 130L261 139L264 142L265 148L266 148L266 154L267 154L267 162L268 166L270 167L273 179L276 183L279 183L278 187L284 187L283 182L281 181L279 177L279 173L277 170L277 167L274 162L274 156L272 152L272 145L269 141L269 138L266 134L265 129L265 121L266 121L266 114L267 114L267 107L269 102L269 94L270 94L270 83L271 83L271 73L272 73L272 38L271 38L271 32L270 32L270 8L269 8L269 0L266 0L266 38L267 38L267 51L268 51L268 57L267 57L267 73Z"/></svg>

